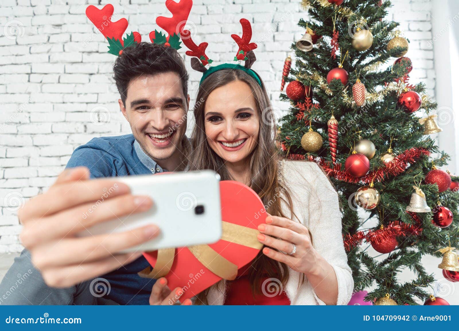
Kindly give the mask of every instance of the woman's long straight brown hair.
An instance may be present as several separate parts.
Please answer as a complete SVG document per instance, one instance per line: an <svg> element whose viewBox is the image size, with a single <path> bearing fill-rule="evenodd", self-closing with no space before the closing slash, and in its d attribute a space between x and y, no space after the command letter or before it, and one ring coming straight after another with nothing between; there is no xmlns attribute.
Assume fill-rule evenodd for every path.
<svg viewBox="0 0 459 331"><path fill-rule="evenodd" d="M260 87L255 79L242 70L223 69L216 71L202 82L194 107L196 125L191 138L193 152L189 162L190 170L212 169L220 175L222 180L234 180L226 168L224 160L213 152L207 143L204 127L204 109L207 97L216 88L232 81L244 81L252 89L260 119L257 146L250 155L248 186L257 192L269 214L291 219L293 217L291 195L288 189L282 185L282 181L279 180L281 176L279 172L280 157L274 142L276 129L269 96L263 82ZM290 209L290 215L284 214L281 202L284 202ZM249 268L248 277L252 294L261 293L263 277L277 278L285 285L288 274L288 267L284 263L270 259L260 251ZM196 304L207 304L207 292L204 291L197 296Z"/></svg>

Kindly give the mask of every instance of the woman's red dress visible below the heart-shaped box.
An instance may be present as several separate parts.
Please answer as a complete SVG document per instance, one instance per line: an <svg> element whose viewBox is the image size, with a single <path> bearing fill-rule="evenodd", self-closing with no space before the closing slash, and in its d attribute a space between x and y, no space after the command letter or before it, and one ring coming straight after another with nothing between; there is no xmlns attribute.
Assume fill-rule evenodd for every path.
<svg viewBox="0 0 459 331"><path fill-rule="evenodd" d="M280 282L274 282L269 281L268 284L265 284L264 286L264 293L267 295L263 294L255 294L255 298L253 297L252 294L252 289L250 288L250 282L249 282L249 276L248 276L248 271L249 271L249 266L244 266L239 270L237 273L237 277L234 281L229 282L229 288L226 291L226 298L225 298L225 305L241 305L241 304L247 304L247 305L290 305L290 300L287 297L287 294L285 294L285 291L281 291L280 293L276 294L279 292L279 290L276 291L277 288L274 288L274 286L271 288L274 291L270 292L269 291L269 283L273 283L274 285L278 285L279 287ZM261 280L261 283L268 279L268 277L263 277ZM268 290L267 290L268 289ZM274 295L276 294L276 295ZM271 295L274 295L271 297Z"/></svg>

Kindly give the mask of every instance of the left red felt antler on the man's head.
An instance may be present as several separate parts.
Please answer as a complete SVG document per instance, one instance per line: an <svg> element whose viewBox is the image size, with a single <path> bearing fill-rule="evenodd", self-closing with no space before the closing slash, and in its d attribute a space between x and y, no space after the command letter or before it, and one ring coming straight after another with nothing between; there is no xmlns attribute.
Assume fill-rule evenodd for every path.
<svg viewBox="0 0 459 331"><path fill-rule="evenodd" d="M86 8L86 16L88 16L90 21L95 25L95 27L97 27L105 38L115 39L124 46L123 34L128 28L128 20L121 18L116 22L112 22L111 17L113 15L113 11L114 8L111 4L105 5L102 9L97 9L97 7L90 5ZM133 32L133 34L134 41L140 43L142 39L140 33Z"/></svg>

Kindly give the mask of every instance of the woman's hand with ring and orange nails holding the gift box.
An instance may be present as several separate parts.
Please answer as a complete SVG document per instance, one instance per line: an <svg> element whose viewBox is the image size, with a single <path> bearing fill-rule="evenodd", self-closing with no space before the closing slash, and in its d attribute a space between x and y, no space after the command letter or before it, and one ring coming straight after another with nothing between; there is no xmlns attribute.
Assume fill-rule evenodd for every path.
<svg viewBox="0 0 459 331"><path fill-rule="evenodd" d="M320 262L325 260L313 248L308 228L288 218L269 214L265 222L258 226L261 232L258 240L276 250L265 247L263 254L306 275L319 273Z"/></svg>

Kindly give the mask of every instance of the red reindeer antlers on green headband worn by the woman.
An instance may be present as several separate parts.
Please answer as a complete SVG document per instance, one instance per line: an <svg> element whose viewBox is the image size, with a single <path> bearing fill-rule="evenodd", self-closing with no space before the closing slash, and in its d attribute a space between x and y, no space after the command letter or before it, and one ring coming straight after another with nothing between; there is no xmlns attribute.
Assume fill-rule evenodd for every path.
<svg viewBox="0 0 459 331"><path fill-rule="evenodd" d="M250 22L245 18L241 18L239 22L241 22L242 25L242 37L239 37L237 34L232 34L231 37L239 46L239 49L237 51L236 56L234 57L234 60L244 60L244 66L234 63L224 63L207 69L206 65L212 63L212 60L210 60L209 57L206 55L206 48L208 43L200 43L199 46L196 45L196 43L194 43L191 39L190 31L183 30L182 41L185 44L185 46L188 49L190 49L187 50L185 54L193 56L191 58L191 67L194 70L203 73L201 81L199 82L200 85L202 81L204 81L209 75L213 74L216 71L222 69L236 69L245 71L248 75L252 76L260 86L262 86L260 77L258 77L255 71L251 69L253 63L257 60L255 54L253 53L253 49L257 48L257 44L250 42L250 39L252 38L252 27L250 25Z"/></svg>

